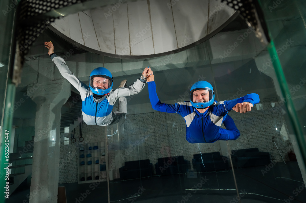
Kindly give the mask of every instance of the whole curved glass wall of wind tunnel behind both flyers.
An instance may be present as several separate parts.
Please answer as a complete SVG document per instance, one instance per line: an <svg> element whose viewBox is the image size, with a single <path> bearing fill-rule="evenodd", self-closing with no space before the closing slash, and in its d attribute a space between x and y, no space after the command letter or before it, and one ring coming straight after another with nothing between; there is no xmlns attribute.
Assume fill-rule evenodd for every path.
<svg viewBox="0 0 306 203"><path fill-rule="evenodd" d="M273 70L262 71L260 61L266 47L251 30L223 30L191 49L142 60L103 59L51 32L40 37L26 58L17 88L17 100L23 98L27 103L15 111L13 123L18 126L16 152L33 165L24 162L24 178L14 176L14 185L19 187L7 202L31 201L46 188L50 194L58 189L60 198L63 187L67 202L107 202L108 196L110 202L306 199L305 174L283 114L279 86L267 74ZM126 97L128 114L120 122L106 127L82 124L80 95L73 86L70 89L47 55L45 41L54 43L57 55L87 85L90 72L103 64L113 74L113 89L123 79L129 86L149 66L162 103L188 101L191 86L200 80L211 83L216 101L257 93L260 102L250 112L228 113L240 131L237 140L231 141L188 143L185 119L153 110L148 84L140 93ZM74 54L66 54L70 49ZM118 101L113 111L117 108ZM35 147L41 151L35 153ZM49 173L58 177L58 183L31 174L29 165L36 167L43 161L58 171Z"/></svg>

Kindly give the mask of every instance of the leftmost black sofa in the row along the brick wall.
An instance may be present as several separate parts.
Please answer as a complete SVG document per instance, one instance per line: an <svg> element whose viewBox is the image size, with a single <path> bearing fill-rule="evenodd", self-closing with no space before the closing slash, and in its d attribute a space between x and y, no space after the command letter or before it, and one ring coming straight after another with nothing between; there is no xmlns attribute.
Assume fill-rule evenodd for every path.
<svg viewBox="0 0 306 203"><path fill-rule="evenodd" d="M125 161L119 168L120 180L135 179L153 175L153 165L149 159L138 161Z"/></svg>

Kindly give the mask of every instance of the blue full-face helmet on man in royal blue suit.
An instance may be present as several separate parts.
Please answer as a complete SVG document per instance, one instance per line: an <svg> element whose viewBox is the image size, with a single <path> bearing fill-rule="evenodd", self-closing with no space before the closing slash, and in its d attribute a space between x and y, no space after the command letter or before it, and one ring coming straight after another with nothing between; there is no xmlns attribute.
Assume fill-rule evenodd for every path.
<svg viewBox="0 0 306 203"><path fill-rule="evenodd" d="M203 97L197 98L199 94L202 95L204 99ZM203 109L214 103L214 100L215 91L209 82L201 80L192 85L190 89L190 102L193 107Z"/></svg>

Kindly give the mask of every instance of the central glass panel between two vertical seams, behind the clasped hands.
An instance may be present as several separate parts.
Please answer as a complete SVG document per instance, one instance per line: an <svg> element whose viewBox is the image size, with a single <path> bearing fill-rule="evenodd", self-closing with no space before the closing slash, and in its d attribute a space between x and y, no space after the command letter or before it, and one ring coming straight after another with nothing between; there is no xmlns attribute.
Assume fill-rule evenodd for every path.
<svg viewBox="0 0 306 203"><path fill-rule="evenodd" d="M187 55L193 53L200 53L200 59L186 65ZM130 66L129 63L151 67L166 57L122 60L121 65L123 69ZM171 57L171 69L167 65L152 67L156 91L162 102L188 101L191 86L200 80L214 85L206 43ZM180 59L179 63L177 59ZM113 61L105 57L105 67L113 65ZM139 73L132 75L116 72L122 76L114 77L114 84L123 79L127 79L128 84L134 82L142 70L138 68L137 71ZM199 197L230 201L237 196L230 161L224 156L226 143L223 147L219 142L188 143L184 118L178 114L153 111L147 87L127 97L127 103L125 120L107 127L109 166L114 178L110 181L110 202L149 199L154 202L185 202L199 201Z"/></svg>

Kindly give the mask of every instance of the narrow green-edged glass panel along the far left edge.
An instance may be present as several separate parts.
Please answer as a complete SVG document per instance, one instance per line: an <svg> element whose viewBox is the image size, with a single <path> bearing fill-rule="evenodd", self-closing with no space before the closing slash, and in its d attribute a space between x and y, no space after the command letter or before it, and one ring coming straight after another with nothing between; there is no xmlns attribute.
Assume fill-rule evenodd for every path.
<svg viewBox="0 0 306 203"><path fill-rule="evenodd" d="M11 7L10 7L11 6ZM11 36L13 32L13 17L15 12L15 4L9 0L0 2L1 15L0 15L0 143L1 143L1 169L0 169L0 188L1 193L4 194L0 201L8 198L6 188L13 183L13 178L6 176L5 167L12 166L9 161L10 155L13 153L14 133L12 128L12 114L13 109L9 109L13 102L15 87L10 84L8 77L9 66L12 69L12 61L10 54ZM10 63L10 64L9 64ZM7 86L8 85L8 86ZM5 112L6 108L6 113ZM6 133L6 134L5 134ZM5 151L6 150L6 151ZM15 169L13 169L15 170ZM11 174L12 168L9 173ZM8 179L9 178L9 179ZM6 196L6 197L5 197Z"/></svg>

